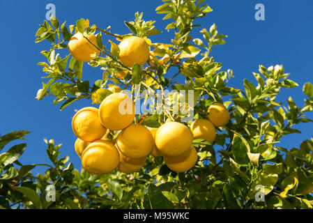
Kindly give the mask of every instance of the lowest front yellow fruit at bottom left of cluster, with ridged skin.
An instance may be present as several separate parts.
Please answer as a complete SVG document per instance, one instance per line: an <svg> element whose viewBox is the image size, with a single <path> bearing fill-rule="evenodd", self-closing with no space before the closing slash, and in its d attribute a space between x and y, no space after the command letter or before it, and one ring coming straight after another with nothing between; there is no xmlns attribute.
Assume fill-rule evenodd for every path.
<svg viewBox="0 0 313 223"><path fill-rule="evenodd" d="M93 141L82 153L82 167L90 174L108 174L119 166L119 151L109 140Z"/></svg>

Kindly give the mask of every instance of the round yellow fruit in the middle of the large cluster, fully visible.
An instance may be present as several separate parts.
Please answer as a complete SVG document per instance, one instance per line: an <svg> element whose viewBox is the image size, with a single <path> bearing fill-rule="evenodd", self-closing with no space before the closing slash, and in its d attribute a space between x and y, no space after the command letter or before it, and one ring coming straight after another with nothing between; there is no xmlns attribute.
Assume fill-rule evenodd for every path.
<svg viewBox="0 0 313 223"><path fill-rule="evenodd" d="M151 153L154 145L151 132L144 125L130 125L116 138L116 146L123 155L132 159L145 157Z"/></svg>

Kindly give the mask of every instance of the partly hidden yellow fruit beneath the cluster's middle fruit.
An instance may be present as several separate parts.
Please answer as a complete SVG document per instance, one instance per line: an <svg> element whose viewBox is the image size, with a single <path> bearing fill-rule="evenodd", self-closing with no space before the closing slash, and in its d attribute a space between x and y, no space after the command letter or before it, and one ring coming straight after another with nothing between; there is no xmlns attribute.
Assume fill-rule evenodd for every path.
<svg viewBox="0 0 313 223"><path fill-rule="evenodd" d="M132 174L135 171L139 171L139 169L142 169L144 167L144 163L146 162L146 156L138 158L138 159L132 159L130 157L127 157L123 155L123 153L120 152L120 162L119 162L119 171L125 173L125 174Z"/></svg>

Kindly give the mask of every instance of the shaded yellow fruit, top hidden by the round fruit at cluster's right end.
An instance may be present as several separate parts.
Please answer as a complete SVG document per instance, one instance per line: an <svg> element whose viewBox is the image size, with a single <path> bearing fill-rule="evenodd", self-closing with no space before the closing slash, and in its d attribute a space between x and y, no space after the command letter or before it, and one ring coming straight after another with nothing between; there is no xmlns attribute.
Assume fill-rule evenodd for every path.
<svg viewBox="0 0 313 223"><path fill-rule="evenodd" d="M178 173L185 172L194 167L198 159L198 154L194 146L191 146L188 151L181 155L176 156L164 156L165 164L169 169L176 171Z"/></svg>

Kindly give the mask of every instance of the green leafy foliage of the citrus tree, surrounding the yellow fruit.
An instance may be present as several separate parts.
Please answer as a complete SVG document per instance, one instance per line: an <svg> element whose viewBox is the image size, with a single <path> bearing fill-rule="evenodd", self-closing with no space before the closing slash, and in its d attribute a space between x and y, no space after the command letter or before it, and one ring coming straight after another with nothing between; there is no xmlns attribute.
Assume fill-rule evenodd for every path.
<svg viewBox="0 0 313 223"><path fill-rule="evenodd" d="M313 110L313 86L303 86L305 100L298 107L291 97L287 102L277 100L282 89L298 84L289 79L283 66L259 66L253 72L254 79L244 79L243 88L228 86L234 77L232 70L222 70L222 63L211 56L214 45L225 43L226 35L217 26L201 29L203 38L192 38L194 22L206 16L212 9L204 0L165 0L156 9L171 19L166 29L173 31L171 43L151 43L148 36L160 34L155 22L143 20L142 13L135 14L135 21L125 22L132 34L145 38L151 47L151 56L145 67L135 64L132 68L119 61L119 47L112 40L121 40L132 34L119 35L100 29L81 19L66 27L59 26L55 18L50 25L45 21L36 33L36 43L48 40L50 49L42 52L47 61L43 67L47 83L38 91L37 99L54 95L53 104L63 102L61 109L76 100L87 98L109 83L130 89L135 95L142 91L166 89L194 90L194 117L206 116L208 106L223 102L228 106L231 121L217 129L213 144L199 139L193 144L199 160L185 173L171 171L162 157L149 156L144 169L135 174L114 171L95 176L82 169L75 169L69 157L59 157L61 145L54 141L47 144L50 164L22 165L18 158L26 144L17 144L0 154L0 208L312 208L313 206L313 138L303 141L300 148L282 148L280 141L288 134L299 134L299 123L311 122L305 117ZM76 31L95 33L100 31L109 40L109 47L97 35L100 56L89 65L103 71L102 79L91 84L84 79L83 63L70 54L63 59L57 53L65 51L67 43ZM109 49L109 50L108 50ZM123 79L116 74L128 70ZM169 77L169 74L173 74ZM185 82L176 82L181 75ZM256 84L254 84L256 83ZM135 93L134 84L139 84ZM130 87L131 86L131 87ZM109 95L109 93L105 93ZM145 99L146 100L146 99ZM159 127L167 118L179 121L183 114L171 116L173 107L163 114L142 114L137 119L143 125ZM189 124L189 123L188 123ZM11 132L0 138L0 150L15 139L24 139L29 132ZM116 132L110 132L114 138ZM46 165L45 174L33 176L31 169ZM56 201L47 201L47 186L56 188ZM264 201L256 196L263 188Z"/></svg>

